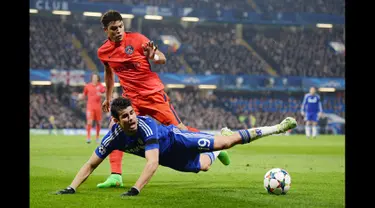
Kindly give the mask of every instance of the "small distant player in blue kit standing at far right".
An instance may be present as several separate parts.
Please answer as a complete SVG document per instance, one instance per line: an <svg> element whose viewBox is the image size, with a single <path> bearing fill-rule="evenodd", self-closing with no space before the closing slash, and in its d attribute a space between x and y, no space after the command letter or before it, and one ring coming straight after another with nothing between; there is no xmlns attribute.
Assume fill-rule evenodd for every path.
<svg viewBox="0 0 375 208"><path fill-rule="evenodd" d="M307 139L310 138L310 132L312 137L316 138L319 118L322 116L323 108L322 102L320 101L319 95L316 94L316 88L310 87L309 93L305 94L301 105L301 114L305 116L305 132Z"/></svg>

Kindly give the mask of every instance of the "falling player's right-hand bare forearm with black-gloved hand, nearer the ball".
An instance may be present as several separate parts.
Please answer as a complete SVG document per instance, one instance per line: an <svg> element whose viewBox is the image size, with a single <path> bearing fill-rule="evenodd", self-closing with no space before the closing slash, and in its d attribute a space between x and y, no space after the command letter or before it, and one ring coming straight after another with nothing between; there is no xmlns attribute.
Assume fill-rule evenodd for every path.
<svg viewBox="0 0 375 208"><path fill-rule="evenodd" d="M138 178L135 185L121 196L136 196L142 188L150 181L151 177L156 172L159 166L159 149L151 149L145 152L147 159L146 166L144 167L141 176Z"/></svg>

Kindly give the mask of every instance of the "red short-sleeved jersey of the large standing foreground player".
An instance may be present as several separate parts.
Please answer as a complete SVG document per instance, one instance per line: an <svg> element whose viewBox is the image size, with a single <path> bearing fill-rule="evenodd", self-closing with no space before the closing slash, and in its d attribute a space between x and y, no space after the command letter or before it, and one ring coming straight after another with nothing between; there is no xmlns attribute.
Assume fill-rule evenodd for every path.
<svg viewBox="0 0 375 208"><path fill-rule="evenodd" d="M120 80L125 95L146 96L164 89L157 73L151 71L142 45L150 40L136 32L125 32L119 43L107 40L98 49L98 58L108 64Z"/></svg>

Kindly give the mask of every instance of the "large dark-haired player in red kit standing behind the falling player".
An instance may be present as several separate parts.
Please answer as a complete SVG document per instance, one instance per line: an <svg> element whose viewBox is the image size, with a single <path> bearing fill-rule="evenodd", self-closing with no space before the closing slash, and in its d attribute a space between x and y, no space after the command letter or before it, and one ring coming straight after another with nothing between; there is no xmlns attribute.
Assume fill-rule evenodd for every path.
<svg viewBox="0 0 375 208"><path fill-rule="evenodd" d="M164 85L157 73L151 70L150 60L155 64L165 64L164 54L147 37L137 32L124 32L121 14L109 10L101 17L101 23L108 39L98 49L98 58L105 67L104 79L107 88L103 111L108 112L114 75L120 80L123 97L132 101L137 115L149 115L164 125L176 125L179 129L199 131L186 127L170 104ZM111 121L110 126L113 124ZM113 151L109 155L111 175L99 188L123 186L123 152Z"/></svg>

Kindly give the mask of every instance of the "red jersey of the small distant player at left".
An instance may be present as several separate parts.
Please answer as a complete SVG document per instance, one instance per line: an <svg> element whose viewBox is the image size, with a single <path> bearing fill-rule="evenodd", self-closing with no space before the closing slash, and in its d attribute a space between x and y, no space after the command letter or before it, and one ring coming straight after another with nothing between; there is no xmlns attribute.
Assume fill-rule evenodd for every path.
<svg viewBox="0 0 375 208"><path fill-rule="evenodd" d="M105 87L102 83L94 85L93 83L88 83L85 85L83 94L88 97L87 99L87 109L95 110L101 109L102 97L101 94L105 92Z"/></svg>

